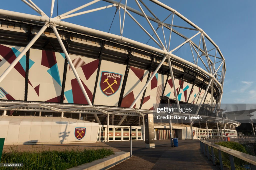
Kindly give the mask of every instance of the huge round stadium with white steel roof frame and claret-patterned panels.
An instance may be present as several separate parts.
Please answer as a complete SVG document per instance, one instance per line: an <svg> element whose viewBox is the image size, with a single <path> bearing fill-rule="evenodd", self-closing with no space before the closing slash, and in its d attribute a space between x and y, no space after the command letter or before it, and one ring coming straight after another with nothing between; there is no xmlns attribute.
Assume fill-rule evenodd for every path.
<svg viewBox="0 0 256 170"><path fill-rule="evenodd" d="M53 4L47 16L22 1L39 15L0 9L0 137L6 145L130 140L130 126L132 140L145 140L144 116L156 116L159 103L167 103L160 96L194 109L171 115L202 117L173 120L174 137L237 136L240 123L216 110L226 73L220 48L175 9L156 0L94 0L52 17ZM117 21L115 33L62 21L99 11L115 14L101 27L110 32ZM158 18L159 11L166 18ZM134 34L127 34L132 24ZM169 132L169 121L154 118L156 140L169 139Z"/></svg>

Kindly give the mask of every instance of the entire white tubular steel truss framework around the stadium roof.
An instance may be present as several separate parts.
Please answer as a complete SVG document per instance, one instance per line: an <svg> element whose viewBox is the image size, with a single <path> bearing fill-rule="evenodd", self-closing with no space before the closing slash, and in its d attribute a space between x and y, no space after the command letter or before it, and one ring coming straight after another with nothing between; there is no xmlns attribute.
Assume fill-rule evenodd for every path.
<svg viewBox="0 0 256 170"><path fill-rule="evenodd" d="M123 0L124 4L121 3L122 0L120 2L113 1L113 0L103 0L105 2L111 3L111 5L101 6L101 7L86 10L86 11L83 11L83 12L74 13L74 12L76 12L78 10L81 10L83 8L86 8L86 7L88 7L92 4L97 5L98 2L100 2L100 0L94 0L94 1L91 1L87 4L82 5L80 7L72 9L68 12L65 12L64 14L61 14L59 16L56 16L56 17L52 18L52 14L53 14L53 10L54 10L54 0L52 0L52 2L51 2L50 17L48 17L31 0L27 0L27 1L26 0L21 0L21 1L23 1L25 4L27 4L30 8L32 8L36 12L38 12L38 14L40 14L41 16L23 14L23 13L7 11L7 10L2 10L2 9L0 9L0 15L7 16L7 17L13 17L13 18L16 18L16 19L21 19L21 20L38 21L38 22L44 23L44 26L36 34L36 36L28 43L28 45L23 49L23 51L20 53L20 55L13 61L13 63L10 64L10 66L0 76L0 82L10 72L10 70L15 66L15 64L22 58L22 56L27 52L27 50L36 42L36 40L40 37L40 35L48 27L51 27L54 30L54 33L55 33L55 35L58 39L58 42L60 43L60 46L61 46L63 52L65 53L65 55L66 55L66 57L69 61L69 64L70 64L70 66L71 66L71 68L74 72L74 75L76 76L76 79L79 82L79 85L80 85L80 87L83 91L83 94L84 94L87 102L89 103L90 106L92 106L92 103L91 103L91 101L90 101L90 99L89 99L81 81L80 81L80 78L79 78L78 74L76 73L76 70L73 68L74 66L73 66L73 64L72 64L72 62L69 58L67 50L66 50L66 48L65 48L65 46L64 46L64 44L63 44L63 42L62 42L62 40L61 40L61 38L58 34L57 29L56 29L56 27L61 27L61 28L66 27L66 28L70 28L74 31L86 32L86 33L90 33L90 34L95 35L95 36L108 37L108 38L114 39L118 42L123 42L123 43L136 45L136 46L141 47L143 49L147 49L149 51L154 51L155 53L161 54L163 56L162 61L159 63L158 67L154 71L153 75L151 75L150 79L147 81L145 86L141 89L141 92L138 94L138 96L136 96L134 102L130 106L130 109L133 108L136 101L140 98L143 91L146 89L147 85L151 82L151 80L153 79L153 76L157 73L158 69L161 67L161 65L165 62L166 59L168 60L169 70L170 70L170 74L171 74L173 80L174 80L174 77L173 77L172 65L171 65L171 60L170 59L177 60L177 61L185 64L186 66L188 66L192 69L195 69L198 72L204 74L206 77L208 77L208 79L210 81L209 81L209 84L207 86L206 91L208 91L210 86L213 87L213 85L215 84L219 88L219 91L220 91L219 103L221 102L221 98L222 98L222 94L223 94L224 78L225 78L225 73L226 73L225 59L224 59L219 47L214 43L214 41L212 41L211 38L201 28L199 28L193 22L188 20L186 17L184 17L182 14L180 14L175 9L173 9L173 8L171 8L171 7L165 5L165 4L163 4L163 3L161 3L157 0L149 0L153 3L155 3L157 6L161 7L163 10L168 11L169 15L163 21L161 21L157 17L157 14L153 12L153 9L150 9L146 5L145 1L139 0L140 2L138 2L137 0L135 0L135 2L136 2L135 4L137 5L136 8L138 7L140 9L140 11L138 11L138 10L135 9L135 7L128 6L127 0ZM95 4L95 3L97 3L97 4ZM99 4L99 5L101 5L101 4ZM62 19L75 17L75 16L87 14L87 13L90 13L90 12L96 12L96 11L111 8L111 7L116 7L116 9L119 10L120 35L111 34L111 33L103 32L103 31L100 31L100 30L94 30L94 29L91 29L91 28L83 27L81 25L76 25L76 24L61 21ZM143 8L145 8L146 10L144 10ZM122 21L121 21L121 11L120 11L121 9L124 10L124 15L123 15ZM135 17L129 11L132 12L133 14L135 14L136 16L140 16L140 17L145 18L148 25L150 26L150 30L147 30L146 27L144 27L142 25L142 23L140 23L138 20L136 20ZM153 17L151 17L150 15L147 15L146 13L148 13L148 12ZM131 19L150 37L150 39L152 39L156 43L156 45L159 48L154 47L154 46L150 46L150 45L138 42L138 41L134 41L134 40L132 40L128 37L124 37L123 32L124 32L124 26L125 26L125 14L127 14L129 17L131 17ZM184 27L182 25L175 24L174 16L177 16L178 18L182 19L184 22L188 23L191 27ZM156 30L153 27L153 24L157 24L158 27L162 28L163 37L158 35L158 33L156 32ZM178 32L174 28L185 29L185 30L193 30L193 31L197 31L197 33L194 34L193 36L191 36L191 35L186 36L186 35ZM167 35L167 34L165 34L164 29L165 30L167 29L169 31L169 41L166 41L165 35ZM153 37L153 35L150 34L150 31L153 31L154 36L156 37L156 39ZM172 42L171 42L172 32L177 34L181 38L183 38L185 41L178 44L172 50L169 50L170 49L170 44L172 44ZM199 37L199 36L200 36L200 38L199 38L199 41L198 41L196 39L196 37ZM188 37L190 37L190 38L188 38ZM196 43L196 41L198 41L198 43ZM188 47L191 50L191 61L192 62L190 62L188 60L185 60L182 57L179 57L177 55L172 54L175 51L177 51L177 49L181 48L183 45L185 45L187 43L189 45ZM202 45L201 45L201 43L202 43ZM199 44L199 45L197 45L197 44ZM207 46L209 44L210 44L210 48L209 48L210 50L207 51ZM195 52L195 55L194 55L193 50ZM201 53L201 55L200 55L200 53ZM205 59L202 56L205 56ZM212 60L212 59L214 59L214 60ZM215 68L215 67L217 67L217 68ZM221 71L219 71L220 69L221 69ZM220 73L220 74L218 74L218 73ZM174 82L173 82L173 84L175 85ZM174 91L176 92L176 90L174 90ZM203 98L201 99L201 102L199 103L200 104L199 106L201 106L202 102L204 102L206 94L207 93L205 93ZM213 95L213 93L212 93L212 95ZM175 93L175 96L176 96L176 102L177 102L178 107L179 107L177 92ZM199 109L200 109L200 107L198 108L197 113L198 113ZM103 113L110 114L110 113L107 113L104 110L101 110L101 111ZM97 114L95 114L95 117L97 117Z"/></svg>

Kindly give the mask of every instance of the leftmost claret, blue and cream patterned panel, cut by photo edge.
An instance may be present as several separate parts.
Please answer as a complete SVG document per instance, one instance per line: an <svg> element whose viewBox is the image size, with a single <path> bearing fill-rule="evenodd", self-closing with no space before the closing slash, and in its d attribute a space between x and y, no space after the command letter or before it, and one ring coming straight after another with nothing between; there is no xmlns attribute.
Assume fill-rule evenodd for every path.
<svg viewBox="0 0 256 170"><path fill-rule="evenodd" d="M24 47L0 44L0 75L18 57ZM1 100L24 100L26 55L14 66L0 83Z"/></svg>

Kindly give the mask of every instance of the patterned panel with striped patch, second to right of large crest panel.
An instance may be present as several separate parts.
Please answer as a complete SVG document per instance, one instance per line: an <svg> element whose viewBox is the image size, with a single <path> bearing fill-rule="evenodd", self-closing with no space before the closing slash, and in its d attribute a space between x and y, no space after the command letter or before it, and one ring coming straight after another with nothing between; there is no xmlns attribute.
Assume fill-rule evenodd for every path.
<svg viewBox="0 0 256 170"><path fill-rule="evenodd" d="M153 72L151 72L152 76ZM151 83L147 86L141 109L155 110L154 103L160 103L167 75L156 73ZM156 106L158 107L158 106Z"/></svg>

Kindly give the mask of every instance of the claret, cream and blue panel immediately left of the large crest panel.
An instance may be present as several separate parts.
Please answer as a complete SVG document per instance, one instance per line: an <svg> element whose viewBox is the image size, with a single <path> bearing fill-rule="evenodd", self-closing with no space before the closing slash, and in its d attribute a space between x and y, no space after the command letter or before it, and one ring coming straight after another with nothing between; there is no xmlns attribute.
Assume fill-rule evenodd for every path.
<svg viewBox="0 0 256 170"><path fill-rule="evenodd" d="M77 55L69 55L80 77L84 89L92 102L95 79L97 76L99 60ZM63 103L88 104L78 81L68 64Z"/></svg>

